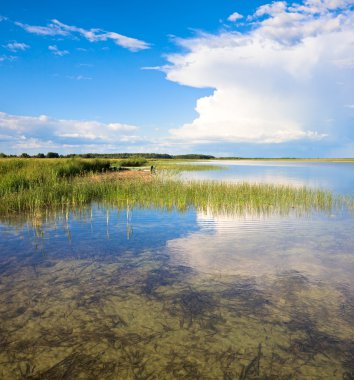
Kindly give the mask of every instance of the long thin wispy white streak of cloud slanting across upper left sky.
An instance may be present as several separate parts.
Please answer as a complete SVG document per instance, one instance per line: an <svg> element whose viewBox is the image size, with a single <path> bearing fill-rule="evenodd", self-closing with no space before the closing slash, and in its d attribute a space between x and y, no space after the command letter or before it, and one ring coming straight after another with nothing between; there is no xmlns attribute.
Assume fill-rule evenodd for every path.
<svg viewBox="0 0 354 380"><path fill-rule="evenodd" d="M130 51L139 51L148 49L150 45L142 40L124 36L116 32L109 32L102 29L84 29L77 26L67 25L59 20L53 19L46 26L35 26L15 23L29 33L42 36L72 36L79 35L86 38L90 42L113 41L116 45L124 47Z"/></svg>

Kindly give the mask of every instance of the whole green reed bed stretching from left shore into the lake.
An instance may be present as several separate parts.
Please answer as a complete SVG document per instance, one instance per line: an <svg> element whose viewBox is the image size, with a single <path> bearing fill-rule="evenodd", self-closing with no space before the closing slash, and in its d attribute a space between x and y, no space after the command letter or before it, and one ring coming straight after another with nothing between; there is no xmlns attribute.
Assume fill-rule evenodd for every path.
<svg viewBox="0 0 354 380"><path fill-rule="evenodd" d="M194 207L220 213L328 211L335 203L330 192L306 187L183 181L163 175L169 169L167 164L158 166L158 175L146 172L144 176L120 178L111 175L111 165L117 166L117 160L0 160L0 215L74 209L90 202L178 210ZM177 166L191 170L183 164L170 169Z"/></svg>

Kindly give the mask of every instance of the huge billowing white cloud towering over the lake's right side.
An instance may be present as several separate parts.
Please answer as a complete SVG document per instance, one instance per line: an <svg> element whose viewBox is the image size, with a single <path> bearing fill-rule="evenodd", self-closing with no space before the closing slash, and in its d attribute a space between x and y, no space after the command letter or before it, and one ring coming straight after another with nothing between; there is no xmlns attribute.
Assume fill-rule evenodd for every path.
<svg viewBox="0 0 354 380"><path fill-rule="evenodd" d="M167 57L167 79L213 92L172 137L195 144L350 138L343 104L354 102L353 3L273 2L248 18L247 31L178 39L184 52Z"/></svg>

